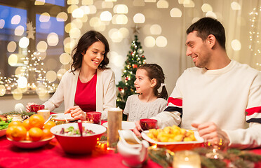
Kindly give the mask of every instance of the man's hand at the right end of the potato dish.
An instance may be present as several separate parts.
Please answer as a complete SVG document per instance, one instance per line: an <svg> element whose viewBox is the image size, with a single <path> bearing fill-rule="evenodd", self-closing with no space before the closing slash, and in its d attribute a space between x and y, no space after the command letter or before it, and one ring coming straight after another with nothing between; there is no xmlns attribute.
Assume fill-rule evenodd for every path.
<svg viewBox="0 0 261 168"><path fill-rule="evenodd" d="M223 141L227 141L229 144L229 137L227 136L227 133L222 131L220 127L217 127L217 125L213 122L203 124L192 123L192 127L197 128L199 136L207 141L217 142L220 139L223 139Z"/></svg>

